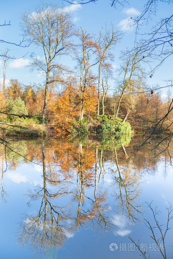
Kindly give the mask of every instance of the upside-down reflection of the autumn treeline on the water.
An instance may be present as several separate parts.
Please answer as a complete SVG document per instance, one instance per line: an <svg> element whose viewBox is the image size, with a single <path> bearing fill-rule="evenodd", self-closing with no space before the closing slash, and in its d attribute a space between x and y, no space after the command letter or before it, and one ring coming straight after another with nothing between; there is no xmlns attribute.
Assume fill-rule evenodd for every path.
<svg viewBox="0 0 173 259"><path fill-rule="evenodd" d="M18 232L20 243L47 254L52 247L63 247L81 229L89 227L98 235L111 232L124 237L131 231L121 225L142 222L145 208L139 200L144 175L155 174L161 161L165 175L169 156L160 153L156 157L156 151L149 151L147 145L132 152L133 145L141 140L130 140L131 136L57 138L8 140L1 145L4 201L7 195L4 174L8 170L31 161L42 170L42 182L24 193L31 208L31 203L36 203L36 210L29 214L23 211ZM111 206L110 197L114 200Z"/></svg>

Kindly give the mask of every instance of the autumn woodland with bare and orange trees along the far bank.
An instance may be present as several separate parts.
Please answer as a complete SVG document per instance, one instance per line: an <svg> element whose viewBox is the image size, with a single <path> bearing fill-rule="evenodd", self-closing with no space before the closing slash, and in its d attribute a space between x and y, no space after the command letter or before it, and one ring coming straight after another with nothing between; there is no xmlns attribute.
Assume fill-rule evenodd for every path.
<svg viewBox="0 0 173 259"><path fill-rule="evenodd" d="M103 24L93 35L76 28L65 9L40 3L34 12L22 14L21 26L25 44L42 49L42 59L30 55L29 67L44 75L45 81L25 85L15 78L6 85L12 57L9 49L1 53L2 134L40 136L47 134L45 125L58 135L172 131L171 83L164 95L162 87L148 84L153 76L148 74L152 52L143 42L121 51L115 72L114 55L123 32L113 23ZM75 66L61 64L64 56Z"/></svg>

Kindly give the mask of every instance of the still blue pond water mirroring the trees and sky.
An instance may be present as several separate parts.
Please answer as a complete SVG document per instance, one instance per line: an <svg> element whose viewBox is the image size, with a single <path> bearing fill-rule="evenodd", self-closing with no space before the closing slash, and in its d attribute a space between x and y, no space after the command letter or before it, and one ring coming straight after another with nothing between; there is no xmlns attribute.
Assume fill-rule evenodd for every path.
<svg viewBox="0 0 173 259"><path fill-rule="evenodd" d="M0 258L173 258L170 156L143 140L1 144Z"/></svg>

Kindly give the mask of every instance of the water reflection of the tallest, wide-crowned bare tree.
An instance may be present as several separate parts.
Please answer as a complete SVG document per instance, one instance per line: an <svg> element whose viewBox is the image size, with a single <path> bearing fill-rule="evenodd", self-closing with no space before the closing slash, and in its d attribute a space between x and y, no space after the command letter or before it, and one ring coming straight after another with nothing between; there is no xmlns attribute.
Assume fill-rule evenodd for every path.
<svg viewBox="0 0 173 259"><path fill-rule="evenodd" d="M56 193L51 193L47 187L46 176L46 157L45 145L42 142L42 159L43 159L43 187L38 187L35 193L28 196L31 197L30 201L42 197L40 210L36 216L25 215L20 223L20 237L19 241L22 244L31 244L31 248L36 250L43 249L47 251L50 247L61 247L65 239L69 237L72 228L67 225L67 220L70 220L69 210L64 206L54 205L53 198L67 194L62 188L63 180L57 181L59 190Z"/></svg>

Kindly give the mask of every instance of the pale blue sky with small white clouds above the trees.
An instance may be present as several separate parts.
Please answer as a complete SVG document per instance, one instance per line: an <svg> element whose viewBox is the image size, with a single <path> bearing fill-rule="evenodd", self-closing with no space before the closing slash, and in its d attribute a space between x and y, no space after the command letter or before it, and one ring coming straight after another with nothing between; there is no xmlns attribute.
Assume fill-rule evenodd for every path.
<svg viewBox="0 0 173 259"><path fill-rule="evenodd" d="M50 3L52 1L46 1ZM39 3L39 1L37 2ZM16 44L20 43L22 40L22 31L21 27L19 26L21 20L21 15L23 12L29 12L29 10L34 11L36 1L8 1L7 8L6 2L3 1L1 3L1 17L0 17L0 24L8 24L10 22L11 25L9 26L0 26L0 39L3 39L8 42L13 42ZM113 62L113 69L114 69L114 76L116 77L117 68L119 68L121 61L119 59L121 55L121 51L125 50L126 48L132 48L134 46L135 41L135 26L127 26L129 24L129 18L138 16L141 14L145 1L130 1L130 4L125 5L124 7L118 6L117 9L111 7L110 2L108 0L99 0L95 3L89 3L86 5L70 5L64 2L64 5L61 0L54 1L60 7L65 8L67 11L71 12L72 21L76 24L76 27L79 28L86 28L89 33L94 33L97 35L98 31L101 29L105 23L110 24L113 23L115 28L118 28L123 31L123 39L114 49L114 62ZM162 13L167 14L171 10L168 8L168 5L161 4L159 7L157 17L161 17ZM142 30L147 31L148 27L143 26ZM20 59L8 60L7 62L7 70L6 70L6 85L8 84L9 80L14 78L18 79L22 84L27 85L29 83L43 83L45 77L40 75L40 73L35 70L32 73L30 72L30 68L27 65L30 64L31 58L30 55L34 51L36 56L43 57L43 51L40 47L36 47L35 45L30 45L29 47L18 47L12 44L7 43L0 43L0 50L4 51L6 48L10 49L9 53L11 56ZM61 64L67 64L69 67L74 67L75 61L69 59L60 60ZM147 82L149 85L159 84L161 87L165 86L166 83L164 80L169 79L172 73L172 60L169 58L166 62L159 68L154 76L150 79L149 76L147 77ZM154 65L155 62L152 64ZM94 71L95 72L95 71ZM0 58L0 83L2 83L3 77L3 65L2 65L2 58ZM115 83L114 80L111 81L110 89L114 91ZM163 90L163 96L166 94L167 88Z"/></svg>

